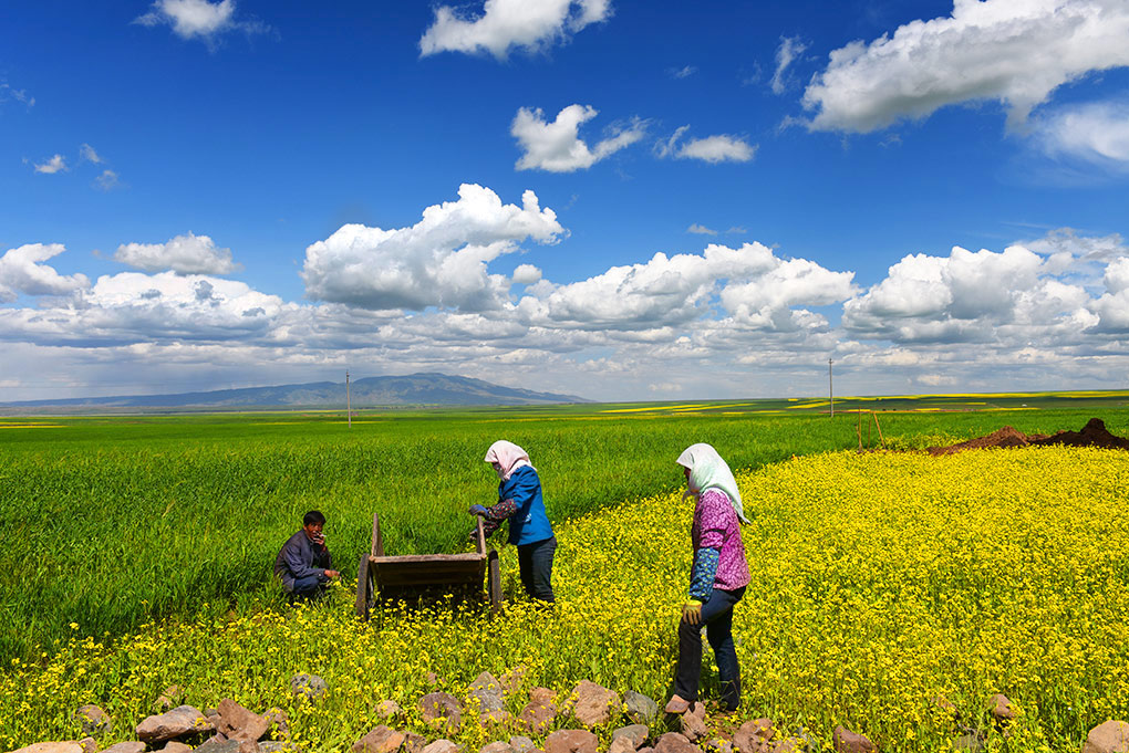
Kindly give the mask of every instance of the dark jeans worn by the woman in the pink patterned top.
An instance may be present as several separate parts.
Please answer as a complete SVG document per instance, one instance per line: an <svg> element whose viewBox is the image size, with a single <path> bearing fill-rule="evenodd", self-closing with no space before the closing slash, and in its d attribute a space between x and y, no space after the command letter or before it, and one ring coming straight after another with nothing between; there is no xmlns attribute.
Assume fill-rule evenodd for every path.
<svg viewBox="0 0 1129 753"><path fill-rule="evenodd" d="M679 622L679 664L674 671L674 692L688 701L698 700L698 681L702 673L702 626L706 638L714 647L717 673L721 680L721 705L734 710L741 702L741 670L737 649L733 645L733 606L745 595L745 587L736 591L714 588L709 601L702 604L698 624Z"/></svg>

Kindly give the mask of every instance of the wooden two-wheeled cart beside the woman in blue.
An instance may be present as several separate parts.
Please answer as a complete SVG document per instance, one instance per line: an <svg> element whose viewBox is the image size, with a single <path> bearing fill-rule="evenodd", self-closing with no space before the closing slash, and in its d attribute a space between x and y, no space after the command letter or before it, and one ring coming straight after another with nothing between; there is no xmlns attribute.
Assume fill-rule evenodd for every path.
<svg viewBox="0 0 1129 753"><path fill-rule="evenodd" d="M456 597L481 600L483 581L490 609L497 612L501 608L501 565L496 549L487 551L482 519L475 516L475 520L476 551L387 557L380 538L380 517L374 514L373 546L361 555L357 572L357 617L367 621L377 599L415 602L429 593L453 593Z"/></svg>

